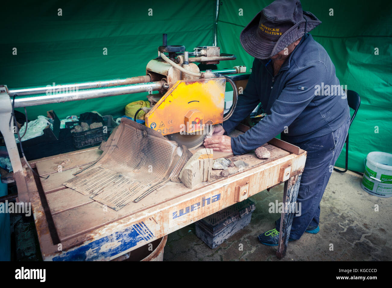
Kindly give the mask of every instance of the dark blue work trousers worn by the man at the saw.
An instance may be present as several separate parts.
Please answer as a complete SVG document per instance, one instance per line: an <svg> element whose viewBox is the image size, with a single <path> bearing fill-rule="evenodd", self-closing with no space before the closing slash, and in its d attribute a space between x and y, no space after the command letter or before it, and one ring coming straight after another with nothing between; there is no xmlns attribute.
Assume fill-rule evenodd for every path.
<svg viewBox="0 0 392 288"><path fill-rule="evenodd" d="M300 143L293 143L289 137L281 134L283 141L308 152L297 198L298 208L301 203L301 213L298 213L300 216L294 214L290 238L298 240L308 225L319 225L321 197L323 197L335 162L343 149L349 125L350 117L334 132ZM276 229L278 231L280 229L280 218L276 221Z"/></svg>

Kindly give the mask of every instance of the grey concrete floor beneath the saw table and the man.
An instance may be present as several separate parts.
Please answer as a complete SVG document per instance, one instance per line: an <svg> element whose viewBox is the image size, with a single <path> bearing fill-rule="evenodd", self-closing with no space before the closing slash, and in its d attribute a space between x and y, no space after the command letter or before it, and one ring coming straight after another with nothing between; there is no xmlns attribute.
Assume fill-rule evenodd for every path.
<svg viewBox="0 0 392 288"><path fill-rule="evenodd" d="M361 179L350 171L332 173L321 200L320 232L289 242L284 261L392 260L392 197L368 194L360 186ZM278 261L277 247L260 244L257 236L274 228L279 214L268 212L269 203L282 198L283 185L250 197L256 203L250 224L215 249L196 237L194 224L169 234L163 260Z"/></svg>

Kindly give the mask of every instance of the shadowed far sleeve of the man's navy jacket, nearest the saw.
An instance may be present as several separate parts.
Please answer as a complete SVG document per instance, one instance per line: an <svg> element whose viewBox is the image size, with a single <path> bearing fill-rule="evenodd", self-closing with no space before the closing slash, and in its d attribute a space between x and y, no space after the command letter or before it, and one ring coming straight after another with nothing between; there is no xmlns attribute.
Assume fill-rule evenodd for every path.
<svg viewBox="0 0 392 288"><path fill-rule="evenodd" d="M255 61L253 61L252 73L250 73L246 88L243 90L243 94L238 95L236 109L234 109L232 116L223 122L223 128L226 131L225 134L230 134L238 123L244 120L256 108L258 103L260 103L260 96L256 89L256 85L260 85L260 83L255 82L255 74L257 72Z"/></svg>

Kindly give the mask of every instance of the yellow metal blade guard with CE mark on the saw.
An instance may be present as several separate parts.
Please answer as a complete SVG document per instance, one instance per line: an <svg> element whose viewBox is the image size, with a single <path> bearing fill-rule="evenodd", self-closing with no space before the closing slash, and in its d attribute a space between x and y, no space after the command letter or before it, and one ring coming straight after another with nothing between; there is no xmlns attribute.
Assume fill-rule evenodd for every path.
<svg viewBox="0 0 392 288"><path fill-rule="evenodd" d="M223 122L226 78L180 80L145 116L145 125L162 135L197 134L206 124Z"/></svg>

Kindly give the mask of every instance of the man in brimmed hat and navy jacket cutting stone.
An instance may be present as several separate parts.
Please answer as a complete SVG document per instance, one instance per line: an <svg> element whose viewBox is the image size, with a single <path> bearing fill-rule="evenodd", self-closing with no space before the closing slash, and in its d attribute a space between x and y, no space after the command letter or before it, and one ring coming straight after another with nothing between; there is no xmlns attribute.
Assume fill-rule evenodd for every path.
<svg viewBox="0 0 392 288"><path fill-rule="evenodd" d="M319 232L319 204L350 123L335 67L307 33L320 23L299 0L276 0L253 18L240 34L242 47L255 58L249 82L230 119L204 143L238 155L281 133L282 140L307 151L297 199L301 215L293 218L290 240ZM245 134L227 136L259 102L267 116ZM280 219L259 236L260 242L278 245L279 227Z"/></svg>

